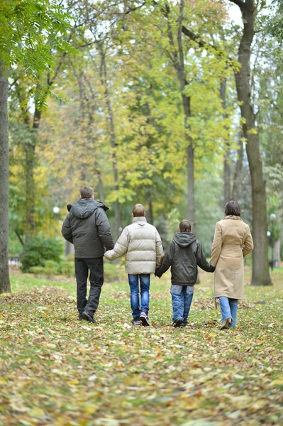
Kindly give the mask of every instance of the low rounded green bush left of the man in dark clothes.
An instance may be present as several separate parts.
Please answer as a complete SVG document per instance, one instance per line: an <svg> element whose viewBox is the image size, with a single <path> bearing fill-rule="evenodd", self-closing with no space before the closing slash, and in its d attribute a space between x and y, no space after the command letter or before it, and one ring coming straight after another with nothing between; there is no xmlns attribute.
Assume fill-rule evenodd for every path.
<svg viewBox="0 0 283 426"><path fill-rule="evenodd" d="M21 256L21 269L23 272L29 271L34 266L45 266L46 261L54 261L60 263L62 255L62 243L57 239L43 239L40 236L35 236L30 239L24 247ZM54 264L52 263L54 268Z"/></svg>

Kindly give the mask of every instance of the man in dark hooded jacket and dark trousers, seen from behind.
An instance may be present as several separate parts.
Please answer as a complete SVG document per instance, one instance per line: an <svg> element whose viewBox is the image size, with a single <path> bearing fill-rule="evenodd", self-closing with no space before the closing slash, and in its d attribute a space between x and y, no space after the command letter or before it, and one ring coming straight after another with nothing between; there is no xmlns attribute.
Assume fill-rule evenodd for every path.
<svg viewBox="0 0 283 426"><path fill-rule="evenodd" d="M78 202L68 204L69 214L62 226L62 236L74 244L74 268L77 279L77 310L79 320L95 322L94 313L99 305L104 283L104 247L114 246L105 211L109 208L94 200L94 190L84 187ZM87 300L87 277L90 290Z"/></svg>

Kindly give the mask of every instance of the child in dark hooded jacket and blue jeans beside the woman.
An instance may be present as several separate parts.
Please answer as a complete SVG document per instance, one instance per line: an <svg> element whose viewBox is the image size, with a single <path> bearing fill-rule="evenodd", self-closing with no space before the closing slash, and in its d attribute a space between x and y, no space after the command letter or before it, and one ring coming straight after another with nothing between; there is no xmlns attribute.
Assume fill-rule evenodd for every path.
<svg viewBox="0 0 283 426"><path fill-rule="evenodd" d="M197 267L206 272L215 271L215 268L206 261L201 244L191 231L192 226L189 221L182 220L179 224L179 232L170 243L161 266L155 271L155 275L161 277L171 266L170 293L174 327L187 324L194 295L194 284L198 275Z"/></svg>

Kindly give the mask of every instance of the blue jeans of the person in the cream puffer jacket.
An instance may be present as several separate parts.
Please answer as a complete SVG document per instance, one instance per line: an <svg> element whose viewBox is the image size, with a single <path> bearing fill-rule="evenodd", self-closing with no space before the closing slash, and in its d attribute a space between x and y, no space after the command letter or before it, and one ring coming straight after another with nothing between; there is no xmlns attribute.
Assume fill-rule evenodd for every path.
<svg viewBox="0 0 283 426"><path fill-rule="evenodd" d="M138 285L139 279L140 288ZM150 309L150 273L142 273L140 275L128 274L128 283L131 288L133 317L139 317L141 310L148 314L148 310Z"/></svg>

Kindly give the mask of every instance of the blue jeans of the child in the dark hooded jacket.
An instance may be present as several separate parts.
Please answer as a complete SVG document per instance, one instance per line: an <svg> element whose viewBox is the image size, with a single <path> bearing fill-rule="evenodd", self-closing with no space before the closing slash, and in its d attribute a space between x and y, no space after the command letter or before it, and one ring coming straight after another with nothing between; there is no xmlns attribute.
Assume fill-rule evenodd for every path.
<svg viewBox="0 0 283 426"><path fill-rule="evenodd" d="M170 293L172 296L173 322L177 320L177 318L182 318L183 322L187 324L194 295L194 286L171 285Z"/></svg>

